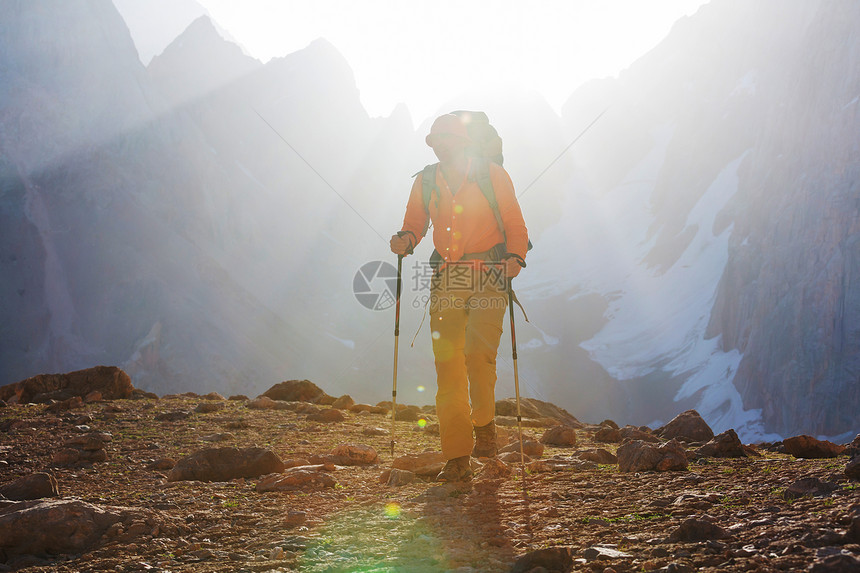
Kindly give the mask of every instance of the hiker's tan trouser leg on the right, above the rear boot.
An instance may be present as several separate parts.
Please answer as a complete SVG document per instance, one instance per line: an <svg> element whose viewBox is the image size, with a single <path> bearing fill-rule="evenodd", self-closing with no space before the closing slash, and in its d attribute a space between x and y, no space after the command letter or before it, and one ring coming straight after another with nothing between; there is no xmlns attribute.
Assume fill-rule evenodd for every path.
<svg viewBox="0 0 860 573"><path fill-rule="evenodd" d="M469 299L467 307L464 352L472 423L484 426L496 415L496 353L502 337L507 299L504 293L478 292Z"/></svg>

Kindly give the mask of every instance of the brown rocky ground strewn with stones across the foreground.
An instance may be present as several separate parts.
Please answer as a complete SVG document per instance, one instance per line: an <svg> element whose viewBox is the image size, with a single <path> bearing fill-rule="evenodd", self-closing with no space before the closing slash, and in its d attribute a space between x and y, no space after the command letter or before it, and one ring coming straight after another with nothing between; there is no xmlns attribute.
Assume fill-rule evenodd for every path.
<svg viewBox="0 0 860 573"><path fill-rule="evenodd" d="M844 453L709 457L701 440L562 412L526 420L524 476L514 453L437 484L422 476L440 467L431 408L396 422L392 471L390 416L351 402L137 392L2 407L0 571L860 570L860 482ZM560 421L564 435L544 441L568 445L540 444ZM616 463L630 444L646 450ZM634 471L661 444L670 471ZM230 463L258 475L199 481L224 471L191 463L207 448L256 455Z"/></svg>

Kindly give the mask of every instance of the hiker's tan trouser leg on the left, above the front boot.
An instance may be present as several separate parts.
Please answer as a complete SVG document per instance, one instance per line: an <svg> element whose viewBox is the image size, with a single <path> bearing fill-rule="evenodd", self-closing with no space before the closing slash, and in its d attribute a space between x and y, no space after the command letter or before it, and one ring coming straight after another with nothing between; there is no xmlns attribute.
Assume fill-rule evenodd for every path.
<svg viewBox="0 0 860 573"><path fill-rule="evenodd" d="M466 311L463 299L436 289L431 302L430 333L436 360L436 415L442 454L446 460L472 452L472 421L469 417L469 391L463 357Z"/></svg>

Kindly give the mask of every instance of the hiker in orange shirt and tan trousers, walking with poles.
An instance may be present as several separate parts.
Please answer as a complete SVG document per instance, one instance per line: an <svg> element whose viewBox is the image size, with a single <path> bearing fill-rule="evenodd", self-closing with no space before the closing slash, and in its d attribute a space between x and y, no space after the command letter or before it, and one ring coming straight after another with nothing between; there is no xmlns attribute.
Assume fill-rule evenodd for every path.
<svg viewBox="0 0 860 573"><path fill-rule="evenodd" d="M508 281L525 267L529 243L511 178L476 151L468 119L468 114L446 114L433 122L426 142L439 163L416 177L403 227L391 237L392 252L409 254L433 222L430 330L436 414L447 460L436 478L440 482L471 478L470 455L496 455L496 352ZM499 150L500 145L501 140ZM487 193L495 194L495 209Z"/></svg>

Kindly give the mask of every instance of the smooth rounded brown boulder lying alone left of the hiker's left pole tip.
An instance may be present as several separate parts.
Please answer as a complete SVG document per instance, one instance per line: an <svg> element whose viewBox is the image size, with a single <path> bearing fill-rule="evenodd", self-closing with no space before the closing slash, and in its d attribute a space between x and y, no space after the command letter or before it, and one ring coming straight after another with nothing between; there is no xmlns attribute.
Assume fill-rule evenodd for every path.
<svg viewBox="0 0 860 573"><path fill-rule="evenodd" d="M207 448L179 460L167 481L230 481L284 471L284 462L264 448Z"/></svg>

